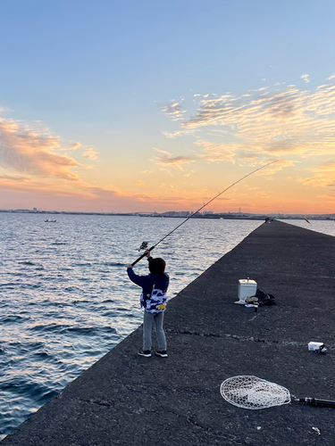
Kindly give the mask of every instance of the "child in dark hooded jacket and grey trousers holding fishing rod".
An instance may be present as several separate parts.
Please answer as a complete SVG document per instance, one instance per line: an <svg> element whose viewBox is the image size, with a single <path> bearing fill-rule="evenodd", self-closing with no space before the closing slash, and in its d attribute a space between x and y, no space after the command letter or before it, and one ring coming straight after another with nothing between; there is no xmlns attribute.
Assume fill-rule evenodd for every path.
<svg viewBox="0 0 335 446"><path fill-rule="evenodd" d="M134 273L133 264L127 267L127 273L131 282L142 287L140 304L145 309L143 315L143 347L138 350L138 354L146 358L151 357L152 329L155 323L155 334L158 343L158 350L155 353L162 358L166 358L163 313L166 309L166 292L170 279L164 272L165 260L159 257L153 259L149 250L144 255L147 256L150 274L138 276Z"/></svg>

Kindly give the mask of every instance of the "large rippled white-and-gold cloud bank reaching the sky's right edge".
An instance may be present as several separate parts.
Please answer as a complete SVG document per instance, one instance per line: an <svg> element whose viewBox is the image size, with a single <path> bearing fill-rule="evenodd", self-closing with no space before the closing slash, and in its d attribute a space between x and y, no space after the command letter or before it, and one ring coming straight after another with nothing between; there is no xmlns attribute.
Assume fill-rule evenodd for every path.
<svg viewBox="0 0 335 446"><path fill-rule="evenodd" d="M306 77L307 76L307 77ZM304 80L309 80L308 75ZM295 167L307 158L335 153L335 75L311 90L281 83L258 88L246 95L203 95L193 117L180 122L170 138L197 131L195 153L161 152L155 162L185 172L192 162L247 162L250 166L281 158L260 175ZM275 89L274 89L275 88ZM196 136L193 134L192 136ZM200 149L200 150L199 150ZM170 173L170 170L169 170ZM311 178L298 179L306 186L332 186L333 164L314 169ZM297 176L292 178L297 181Z"/></svg>

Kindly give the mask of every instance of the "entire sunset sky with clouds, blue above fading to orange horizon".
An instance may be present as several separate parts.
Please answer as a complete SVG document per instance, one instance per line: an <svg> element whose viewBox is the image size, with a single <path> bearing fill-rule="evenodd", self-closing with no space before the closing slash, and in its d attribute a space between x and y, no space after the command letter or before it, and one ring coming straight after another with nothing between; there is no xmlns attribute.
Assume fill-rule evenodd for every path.
<svg viewBox="0 0 335 446"><path fill-rule="evenodd" d="M335 212L332 0L12 0L0 209Z"/></svg>

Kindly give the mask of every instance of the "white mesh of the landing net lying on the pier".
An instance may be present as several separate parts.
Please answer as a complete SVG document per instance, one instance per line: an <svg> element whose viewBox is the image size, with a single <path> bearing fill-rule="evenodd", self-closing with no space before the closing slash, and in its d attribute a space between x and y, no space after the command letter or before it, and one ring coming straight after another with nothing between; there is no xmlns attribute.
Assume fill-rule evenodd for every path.
<svg viewBox="0 0 335 446"><path fill-rule="evenodd" d="M265 409L288 404L288 389L256 376L233 376L221 384L222 397L243 409Z"/></svg>

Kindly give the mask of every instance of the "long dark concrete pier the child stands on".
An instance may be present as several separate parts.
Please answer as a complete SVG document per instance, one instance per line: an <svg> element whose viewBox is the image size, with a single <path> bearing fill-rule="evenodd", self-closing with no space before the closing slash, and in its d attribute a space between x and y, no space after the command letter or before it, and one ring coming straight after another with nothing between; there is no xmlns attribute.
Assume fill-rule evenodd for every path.
<svg viewBox="0 0 335 446"><path fill-rule="evenodd" d="M277 304L235 305L247 277ZM164 326L167 359L138 356L139 327L2 446L335 445L334 409L239 409L220 394L226 378L255 375L335 400L335 237L258 227L169 303Z"/></svg>

